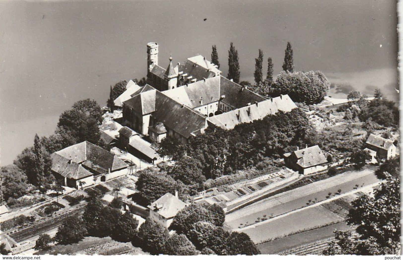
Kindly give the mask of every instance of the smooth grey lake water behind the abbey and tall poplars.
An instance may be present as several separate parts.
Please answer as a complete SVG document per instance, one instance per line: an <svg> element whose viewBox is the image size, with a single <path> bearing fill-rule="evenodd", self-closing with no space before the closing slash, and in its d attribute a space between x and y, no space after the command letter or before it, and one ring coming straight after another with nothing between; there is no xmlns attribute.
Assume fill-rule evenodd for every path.
<svg viewBox="0 0 403 260"><path fill-rule="evenodd" d="M163 67L170 55L210 59L216 44L224 76L232 41L249 81L258 49L278 74L290 41L295 70L321 70L342 85L332 95L380 87L396 101L396 24L391 0L1 1L0 163L35 132L51 134L75 101L105 105L110 85L145 76L150 41Z"/></svg>

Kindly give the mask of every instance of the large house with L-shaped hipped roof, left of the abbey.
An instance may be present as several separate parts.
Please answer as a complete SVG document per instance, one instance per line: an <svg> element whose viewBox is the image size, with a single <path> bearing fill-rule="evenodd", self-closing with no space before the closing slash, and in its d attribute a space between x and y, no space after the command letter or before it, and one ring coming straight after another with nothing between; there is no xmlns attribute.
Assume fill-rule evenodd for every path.
<svg viewBox="0 0 403 260"><path fill-rule="evenodd" d="M52 172L64 186L83 188L127 174L127 163L88 141L50 155Z"/></svg>

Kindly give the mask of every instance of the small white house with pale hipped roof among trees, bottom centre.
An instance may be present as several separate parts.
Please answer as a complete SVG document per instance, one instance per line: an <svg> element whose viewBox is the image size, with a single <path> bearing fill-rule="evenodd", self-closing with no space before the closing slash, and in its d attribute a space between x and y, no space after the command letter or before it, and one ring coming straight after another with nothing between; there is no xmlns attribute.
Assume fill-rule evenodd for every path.
<svg viewBox="0 0 403 260"><path fill-rule="evenodd" d="M177 192L175 196L168 192L148 206L150 208L150 218L168 228L174 217L185 205L185 202L178 198Z"/></svg>

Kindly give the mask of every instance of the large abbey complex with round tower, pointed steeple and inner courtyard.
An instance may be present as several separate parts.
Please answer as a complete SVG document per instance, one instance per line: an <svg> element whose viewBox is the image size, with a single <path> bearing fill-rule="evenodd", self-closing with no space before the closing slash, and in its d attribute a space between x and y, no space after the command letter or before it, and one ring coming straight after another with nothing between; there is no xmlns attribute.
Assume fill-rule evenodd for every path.
<svg viewBox="0 0 403 260"><path fill-rule="evenodd" d="M185 143L208 127L232 129L296 107L288 95L266 98L221 76L201 55L175 65L169 60L168 68L159 66L158 43L148 43L147 85L128 88L115 100L122 104L123 124L157 142L174 136Z"/></svg>

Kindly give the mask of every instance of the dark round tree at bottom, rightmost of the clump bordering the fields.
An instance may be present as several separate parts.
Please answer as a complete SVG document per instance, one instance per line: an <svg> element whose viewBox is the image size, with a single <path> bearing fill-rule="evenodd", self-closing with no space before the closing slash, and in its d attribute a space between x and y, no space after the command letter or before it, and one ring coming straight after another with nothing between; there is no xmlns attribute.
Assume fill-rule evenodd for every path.
<svg viewBox="0 0 403 260"><path fill-rule="evenodd" d="M261 254L255 243L245 233L232 232L226 240L227 254L233 255L258 255Z"/></svg>

